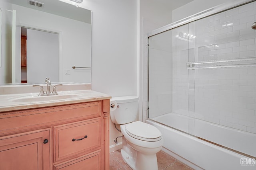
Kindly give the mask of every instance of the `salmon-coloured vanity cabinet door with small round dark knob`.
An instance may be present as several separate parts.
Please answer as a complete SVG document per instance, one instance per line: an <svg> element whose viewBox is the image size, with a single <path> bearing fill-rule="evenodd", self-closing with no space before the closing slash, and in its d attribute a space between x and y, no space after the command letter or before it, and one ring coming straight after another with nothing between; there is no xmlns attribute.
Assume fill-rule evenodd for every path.
<svg viewBox="0 0 256 170"><path fill-rule="evenodd" d="M0 137L0 170L50 170L50 161L50 129Z"/></svg>

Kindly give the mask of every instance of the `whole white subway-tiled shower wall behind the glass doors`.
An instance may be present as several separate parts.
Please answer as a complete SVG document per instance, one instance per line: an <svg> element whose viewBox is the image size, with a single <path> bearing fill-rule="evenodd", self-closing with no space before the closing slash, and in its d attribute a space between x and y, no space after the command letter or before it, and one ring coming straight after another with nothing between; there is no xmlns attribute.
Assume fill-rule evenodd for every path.
<svg viewBox="0 0 256 170"><path fill-rule="evenodd" d="M158 106L152 112L154 115L150 117L167 113L168 110L188 116L192 116L190 113L193 113L197 119L256 133L256 66L238 65L232 68L202 68L189 71L186 69L188 61L255 57L256 31L251 28L254 21L256 21L256 2L251 2L173 29L170 50L163 50L155 45L154 51L158 51L155 53L157 57L155 63L158 64L150 71L154 72L154 75L161 75L162 79L150 82L150 87L152 89L154 86L157 87L154 92L161 91L162 96L164 91L168 92L172 95L172 99L163 100L164 98L159 97L160 94L158 96L156 94L157 98L153 96L152 100L169 102L170 107L165 107L166 109L160 112L158 110L162 107ZM180 32L186 32L182 29L186 26L190 35L196 36L195 39L182 41L180 37L179 39L176 37ZM161 53L165 52L165 58L172 58L171 62L162 60L162 64L159 62L161 50ZM189 57L186 56L188 53ZM256 60L253 62L255 63ZM172 68L169 68L169 72L161 72L168 70L165 68L166 63L170 63ZM194 81L190 81L191 76ZM169 78L172 80L167 80ZM166 82L165 86L160 85L163 82ZM168 84L170 87L167 87ZM193 98L189 97L191 92L188 88L191 87L194 87ZM147 97L144 101L145 99L147 100ZM154 102L154 104L158 103L166 104ZM192 112L189 112L190 108ZM143 111L146 111L145 107Z"/></svg>

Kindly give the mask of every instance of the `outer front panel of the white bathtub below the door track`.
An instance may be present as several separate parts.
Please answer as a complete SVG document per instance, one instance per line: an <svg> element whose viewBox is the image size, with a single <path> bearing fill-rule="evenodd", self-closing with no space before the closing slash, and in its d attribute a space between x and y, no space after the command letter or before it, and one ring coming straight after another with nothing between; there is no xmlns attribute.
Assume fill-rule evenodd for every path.
<svg viewBox="0 0 256 170"><path fill-rule="evenodd" d="M241 165L241 158L249 159L246 156L218 147L150 120L146 120L146 123L154 125L162 132L164 138L163 147L199 167L207 170L240 170L241 168L244 170L255 170L256 168L256 164L252 166Z"/></svg>

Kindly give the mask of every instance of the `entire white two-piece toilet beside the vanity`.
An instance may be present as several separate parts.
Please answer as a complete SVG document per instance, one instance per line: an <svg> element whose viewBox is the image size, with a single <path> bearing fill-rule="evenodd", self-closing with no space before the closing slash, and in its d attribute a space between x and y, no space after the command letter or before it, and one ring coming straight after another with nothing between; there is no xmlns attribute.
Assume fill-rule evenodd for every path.
<svg viewBox="0 0 256 170"><path fill-rule="evenodd" d="M138 97L124 96L110 100L110 118L119 124L122 134L121 154L133 170L158 170L156 153L162 148L162 133L141 121L133 122L138 114Z"/></svg>

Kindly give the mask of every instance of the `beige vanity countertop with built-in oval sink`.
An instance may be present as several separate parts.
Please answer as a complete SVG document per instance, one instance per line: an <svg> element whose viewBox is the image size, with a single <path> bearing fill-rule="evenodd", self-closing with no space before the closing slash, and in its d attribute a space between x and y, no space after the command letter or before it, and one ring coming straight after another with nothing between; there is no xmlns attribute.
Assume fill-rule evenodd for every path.
<svg viewBox="0 0 256 170"><path fill-rule="evenodd" d="M111 98L111 96L107 94L103 94L103 93L88 89L88 86L86 86L86 88L84 88L85 86L81 86L82 88L78 88L77 84L75 86L76 86L76 89L78 90L67 90L68 88L62 88L62 89L60 88L60 90L63 90L63 91L57 90L58 95L56 96L38 96L40 88L39 89L37 88L38 92L36 93L33 92L33 93L16 93L16 94L13 94L13 91L16 91L17 89L15 90L11 89L12 92L6 92L6 89L5 90L2 89L2 93L0 93L0 113L4 111L15 111L15 110L21 110L21 109L38 108L38 107L59 106L64 104L76 104L81 102L92 102L92 101L105 100L105 99ZM69 87L72 87L72 86L69 86ZM1 92L1 88L3 87L0 87L0 92ZM7 88L10 88L10 87L7 87ZM16 87L16 88L22 88L22 87ZM17 91L20 91L20 90L17 90ZM24 89L21 89L21 91L24 92ZM44 91L46 92L46 90Z"/></svg>

